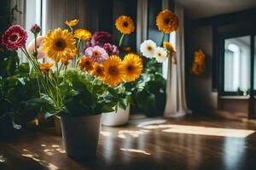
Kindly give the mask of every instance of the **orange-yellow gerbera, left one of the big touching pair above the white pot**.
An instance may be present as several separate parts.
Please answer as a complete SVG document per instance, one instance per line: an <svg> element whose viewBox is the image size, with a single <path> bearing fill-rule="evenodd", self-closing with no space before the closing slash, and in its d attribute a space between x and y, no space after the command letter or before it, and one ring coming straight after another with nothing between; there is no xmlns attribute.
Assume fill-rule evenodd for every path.
<svg viewBox="0 0 256 170"><path fill-rule="evenodd" d="M105 76L102 81L110 87L119 85L123 81L124 69L121 65L121 59L117 55L111 55L109 59L103 62L105 68Z"/></svg>

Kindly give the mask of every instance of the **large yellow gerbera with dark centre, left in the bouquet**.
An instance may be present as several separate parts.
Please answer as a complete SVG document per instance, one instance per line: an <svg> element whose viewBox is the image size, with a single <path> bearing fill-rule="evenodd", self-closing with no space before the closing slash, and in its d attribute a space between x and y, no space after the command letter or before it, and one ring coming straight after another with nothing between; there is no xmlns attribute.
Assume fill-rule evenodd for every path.
<svg viewBox="0 0 256 170"><path fill-rule="evenodd" d="M67 30L61 28L49 31L43 41L44 53L58 62L61 57L71 58L76 53L75 39Z"/></svg>

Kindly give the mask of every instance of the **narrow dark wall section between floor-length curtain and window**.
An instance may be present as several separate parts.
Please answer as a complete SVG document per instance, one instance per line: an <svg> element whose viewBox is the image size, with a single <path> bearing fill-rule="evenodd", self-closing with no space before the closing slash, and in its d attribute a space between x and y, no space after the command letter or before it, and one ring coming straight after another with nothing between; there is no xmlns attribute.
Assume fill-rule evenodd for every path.
<svg viewBox="0 0 256 170"><path fill-rule="evenodd" d="M211 113L217 108L217 93L212 91L212 26L189 26L185 39L186 94L194 114ZM206 71L201 76L190 74L193 54L202 49L206 54Z"/></svg>

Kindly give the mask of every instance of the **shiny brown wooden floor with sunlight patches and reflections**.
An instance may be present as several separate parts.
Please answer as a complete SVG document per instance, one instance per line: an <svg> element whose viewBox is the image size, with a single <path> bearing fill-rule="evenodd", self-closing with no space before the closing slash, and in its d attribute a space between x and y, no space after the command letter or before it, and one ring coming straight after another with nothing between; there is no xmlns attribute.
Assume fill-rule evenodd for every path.
<svg viewBox="0 0 256 170"><path fill-rule="evenodd" d="M102 127L96 159L83 162L66 156L61 137L56 136L54 129L26 132L12 142L0 142L0 169L256 169L256 133L248 131L252 133L248 135L247 131L237 131L238 137L228 137L236 131L224 133L222 128L206 128L256 130L255 123L216 118L160 120L158 123L157 126L137 126L134 122L125 127ZM175 132L177 127L180 128ZM198 134L192 134L194 131Z"/></svg>

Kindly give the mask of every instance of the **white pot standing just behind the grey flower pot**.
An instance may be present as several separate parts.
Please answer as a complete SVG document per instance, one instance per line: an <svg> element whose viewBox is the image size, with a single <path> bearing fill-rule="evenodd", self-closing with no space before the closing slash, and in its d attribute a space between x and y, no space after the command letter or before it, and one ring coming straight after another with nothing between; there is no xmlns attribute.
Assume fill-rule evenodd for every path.
<svg viewBox="0 0 256 170"><path fill-rule="evenodd" d="M120 126L129 121L130 105L126 107L126 110L118 108L117 112L102 113L102 125L105 126Z"/></svg>

